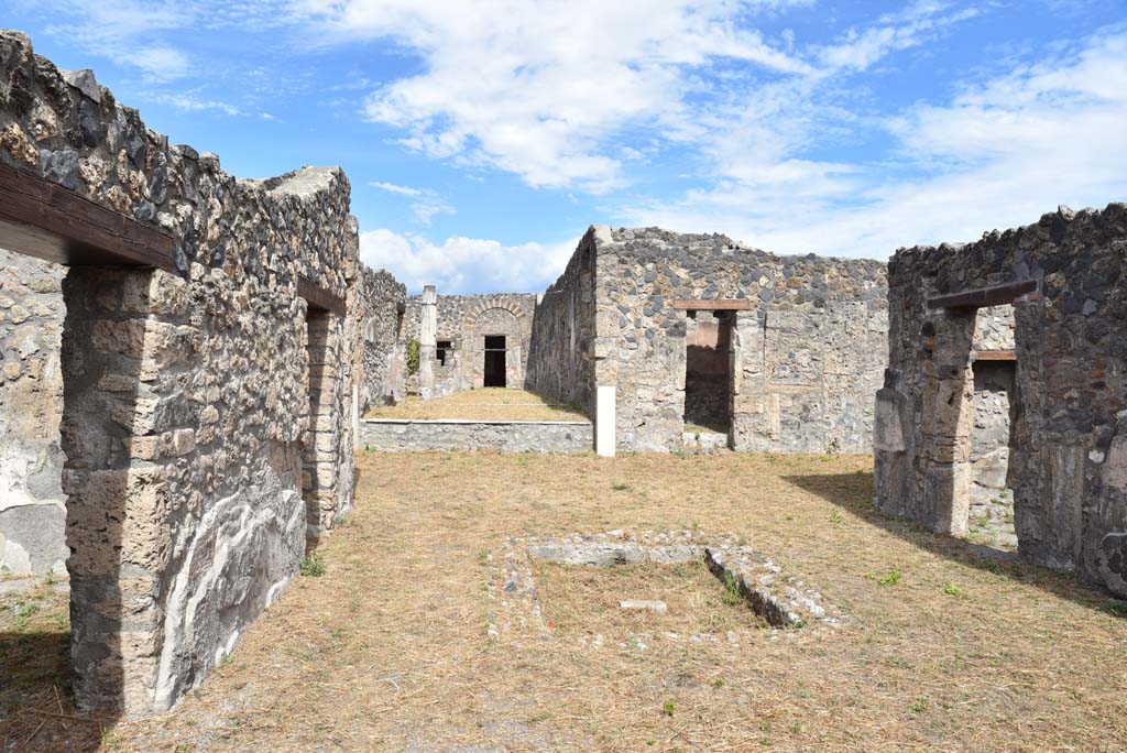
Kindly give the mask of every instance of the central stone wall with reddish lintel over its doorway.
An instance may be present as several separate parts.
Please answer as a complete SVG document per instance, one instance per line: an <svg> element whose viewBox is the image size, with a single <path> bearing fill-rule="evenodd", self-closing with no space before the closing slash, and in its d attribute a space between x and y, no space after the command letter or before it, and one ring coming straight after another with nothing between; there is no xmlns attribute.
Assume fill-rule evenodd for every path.
<svg viewBox="0 0 1127 753"><path fill-rule="evenodd" d="M593 265L583 262L588 255ZM564 397L583 378L553 383L552 371L593 371L598 388L614 388L619 449L681 446L686 347L695 320L675 301L725 299L748 307L727 315L734 316L730 446L870 448L871 390L880 384L887 331L882 264L779 257L717 234L593 228L568 269L553 290L594 291L594 316L589 304L584 312L594 321L584 354L593 366L569 371L568 331L561 326L566 307L557 302L538 313L554 342L536 344L533 383ZM582 391L591 400L589 384Z"/></svg>

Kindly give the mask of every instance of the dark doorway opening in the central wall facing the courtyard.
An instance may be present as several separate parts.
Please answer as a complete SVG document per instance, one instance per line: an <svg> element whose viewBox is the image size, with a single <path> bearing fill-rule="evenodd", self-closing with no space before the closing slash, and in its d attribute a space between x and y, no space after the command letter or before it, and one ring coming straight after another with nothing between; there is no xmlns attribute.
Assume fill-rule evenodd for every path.
<svg viewBox="0 0 1127 753"><path fill-rule="evenodd" d="M689 311L685 431L727 435L731 426L731 311Z"/></svg>

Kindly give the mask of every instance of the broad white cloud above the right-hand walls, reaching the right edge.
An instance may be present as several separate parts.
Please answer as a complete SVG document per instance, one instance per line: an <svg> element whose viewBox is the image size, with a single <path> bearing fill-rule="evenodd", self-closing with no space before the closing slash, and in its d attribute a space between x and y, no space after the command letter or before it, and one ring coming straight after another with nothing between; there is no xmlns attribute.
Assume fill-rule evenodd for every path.
<svg viewBox="0 0 1127 753"><path fill-rule="evenodd" d="M1033 222L1057 204L1124 201L1125 123L1127 33L1119 30L893 118L887 129L900 165L912 168L906 177L889 178L887 165L799 165L796 179L772 181L795 163L783 158L765 177L623 213L638 224L722 229L779 253L884 258L898 246Z"/></svg>

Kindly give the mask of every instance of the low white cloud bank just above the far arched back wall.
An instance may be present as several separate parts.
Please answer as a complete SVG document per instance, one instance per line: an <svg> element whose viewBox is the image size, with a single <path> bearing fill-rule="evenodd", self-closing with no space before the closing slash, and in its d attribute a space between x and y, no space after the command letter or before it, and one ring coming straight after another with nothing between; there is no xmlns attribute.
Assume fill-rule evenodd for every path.
<svg viewBox="0 0 1127 753"><path fill-rule="evenodd" d="M372 268L390 269L412 293L436 285L440 293L481 291L539 292L556 282L571 257L579 234L554 246L447 238L441 246L418 236L390 230L361 233L361 259Z"/></svg>

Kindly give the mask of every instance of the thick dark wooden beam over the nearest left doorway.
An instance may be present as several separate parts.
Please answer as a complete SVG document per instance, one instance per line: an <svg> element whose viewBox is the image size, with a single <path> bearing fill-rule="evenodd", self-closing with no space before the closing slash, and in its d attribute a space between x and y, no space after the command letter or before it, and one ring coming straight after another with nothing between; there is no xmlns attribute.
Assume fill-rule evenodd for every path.
<svg viewBox="0 0 1127 753"><path fill-rule="evenodd" d="M0 247L69 266L176 273L175 241L56 183L0 162Z"/></svg>

